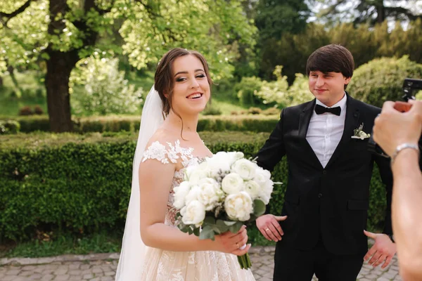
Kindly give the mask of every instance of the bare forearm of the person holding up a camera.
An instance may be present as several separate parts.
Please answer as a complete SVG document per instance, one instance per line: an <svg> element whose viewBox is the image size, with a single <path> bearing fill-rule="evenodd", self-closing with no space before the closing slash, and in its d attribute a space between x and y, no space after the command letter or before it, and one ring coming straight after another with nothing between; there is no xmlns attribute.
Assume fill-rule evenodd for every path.
<svg viewBox="0 0 422 281"><path fill-rule="evenodd" d="M392 172L392 228L399 263L409 275L422 274L422 174L418 152L410 149L400 152Z"/></svg>

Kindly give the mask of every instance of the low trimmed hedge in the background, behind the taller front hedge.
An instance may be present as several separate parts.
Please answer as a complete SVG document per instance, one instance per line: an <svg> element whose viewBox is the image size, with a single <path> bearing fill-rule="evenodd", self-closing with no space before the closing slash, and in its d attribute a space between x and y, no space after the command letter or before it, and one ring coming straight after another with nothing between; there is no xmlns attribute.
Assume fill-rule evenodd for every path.
<svg viewBox="0 0 422 281"><path fill-rule="evenodd" d="M49 117L0 117L0 120L15 120L20 123L20 131L50 131ZM138 131L140 118L136 116L84 117L74 118L75 133ZM279 115L269 116L202 116L198 131L255 131L271 132L279 121Z"/></svg>

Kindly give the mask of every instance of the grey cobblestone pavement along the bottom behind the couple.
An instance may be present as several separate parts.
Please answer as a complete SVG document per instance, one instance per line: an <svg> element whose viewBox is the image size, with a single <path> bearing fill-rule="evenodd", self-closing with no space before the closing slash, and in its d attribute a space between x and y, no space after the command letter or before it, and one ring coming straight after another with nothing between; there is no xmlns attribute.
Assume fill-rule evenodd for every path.
<svg viewBox="0 0 422 281"><path fill-rule="evenodd" d="M252 272L257 281L272 280L274 247L250 249ZM56 256L41 259L0 259L1 281L114 281L118 254L91 254L87 256ZM364 264L359 281L401 281L397 258L381 270ZM317 280L316 277L313 280ZM207 280L204 280L207 281Z"/></svg>

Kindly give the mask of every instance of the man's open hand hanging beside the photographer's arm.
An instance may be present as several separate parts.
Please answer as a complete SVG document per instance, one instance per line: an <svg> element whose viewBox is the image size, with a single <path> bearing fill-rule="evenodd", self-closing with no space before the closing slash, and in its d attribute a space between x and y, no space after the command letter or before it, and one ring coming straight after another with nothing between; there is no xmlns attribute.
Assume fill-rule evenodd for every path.
<svg viewBox="0 0 422 281"><path fill-rule="evenodd" d="M395 243L390 240L388 235L383 233L370 233L369 231L364 230L364 234L375 240L375 244L373 244L371 249L369 249L364 256L364 261L367 261L372 257L369 259L368 263L374 268L381 263L383 263L381 268L386 268L397 251Z"/></svg>

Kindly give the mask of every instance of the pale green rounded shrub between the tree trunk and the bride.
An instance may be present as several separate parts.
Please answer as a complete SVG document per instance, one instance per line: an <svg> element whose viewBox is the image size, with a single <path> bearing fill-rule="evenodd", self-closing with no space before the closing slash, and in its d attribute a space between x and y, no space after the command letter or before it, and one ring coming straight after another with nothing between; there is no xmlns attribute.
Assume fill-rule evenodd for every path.
<svg viewBox="0 0 422 281"><path fill-rule="evenodd" d="M77 63L70 84L84 85L84 91L72 95L76 114L128 114L138 110L143 90L135 89L124 79L124 71L118 70L118 64L118 58L100 58L98 54Z"/></svg>

